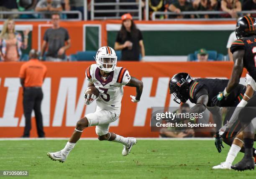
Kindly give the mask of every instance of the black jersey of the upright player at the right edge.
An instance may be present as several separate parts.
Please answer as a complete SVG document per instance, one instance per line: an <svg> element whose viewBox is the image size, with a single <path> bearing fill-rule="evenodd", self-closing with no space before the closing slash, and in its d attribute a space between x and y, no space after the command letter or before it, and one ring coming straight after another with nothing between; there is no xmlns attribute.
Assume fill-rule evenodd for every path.
<svg viewBox="0 0 256 179"><path fill-rule="evenodd" d="M250 76L256 81L256 35L250 37L242 37L232 43L230 51L232 54L243 49L243 66L247 69Z"/></svg>

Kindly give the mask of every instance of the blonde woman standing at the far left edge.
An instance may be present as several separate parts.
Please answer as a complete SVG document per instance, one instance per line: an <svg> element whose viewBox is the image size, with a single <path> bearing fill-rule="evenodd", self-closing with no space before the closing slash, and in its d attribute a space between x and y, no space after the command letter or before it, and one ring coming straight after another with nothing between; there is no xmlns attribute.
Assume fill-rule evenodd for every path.
<svg viewBox="0 0 256 179"><path fill-rule="evenodd" d="M20 33L15 31L14 20L5 20L3 30L0 33L0 58L3 61L19 61L22 55L21 48L28 46L29 29L23 32L24 41Z"/></svg>

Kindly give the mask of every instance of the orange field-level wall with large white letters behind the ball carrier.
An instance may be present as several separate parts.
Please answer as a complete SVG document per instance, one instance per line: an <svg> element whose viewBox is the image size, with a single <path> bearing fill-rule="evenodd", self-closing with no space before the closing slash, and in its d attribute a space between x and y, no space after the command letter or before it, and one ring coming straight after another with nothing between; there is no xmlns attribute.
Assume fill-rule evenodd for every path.
<svg viewBox="0 0 256 179"><path fill-rule="evenodd" d="M95 102L84 105L84 90L87 87L84 72L92 62L44 62L47 76L43 84L44 100L42 113L46 137L69 137L74 126L86 113L93 113ZM18 78L23 62L0 63L0 137L20 137L23 134L24 116L22 88ZM192 77L229 78L231 62L118 62L131 76L143 81L141 101L131 102L135 95L132 87L124 87L122 110L119 120L111 124L110 131L123 136L158 137L151 132L152 106L177 106L169 95L170 77L179 72L188 72ZM243 72L242 77L245 77ZM33 115L32 115L33 117ZM31 137L36 137L35 120L32 118ZM84 130L82 137L96 137L95 127Z"/></svg>

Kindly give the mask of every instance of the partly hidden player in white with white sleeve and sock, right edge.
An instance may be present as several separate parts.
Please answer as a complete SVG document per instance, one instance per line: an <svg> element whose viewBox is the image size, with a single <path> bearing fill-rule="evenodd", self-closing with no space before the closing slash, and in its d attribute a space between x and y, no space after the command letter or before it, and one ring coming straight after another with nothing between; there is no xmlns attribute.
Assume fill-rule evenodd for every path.
<svg viewBox="0 0 256 179"><path fill-rule="evenodd" d="M241 100L241 102L239 102L239 104L237 105L236 110L234 111L230 120L222 128L220 128L219 130L220 136L222 136L225 132L227 132L231 128L231 126L238 120L238 114L240 113L242 108L246 106L247 101L251 99L255 90L256 90L256 82L249 74L246 74L246 92L244 93L243 99ZM256 129L256 124L255 124L256 120L253 119L251 122L253 124L254 129ZM244 152L243 131L239 132L236 135L236 138L233 140L233 143L228 151L228 156L226 160L219 165L213 166L212 169L231 169L231 165L235 160L239 151ZM256 162L255 148L253 148L253 156L254 156L254 161Z"/></svg>

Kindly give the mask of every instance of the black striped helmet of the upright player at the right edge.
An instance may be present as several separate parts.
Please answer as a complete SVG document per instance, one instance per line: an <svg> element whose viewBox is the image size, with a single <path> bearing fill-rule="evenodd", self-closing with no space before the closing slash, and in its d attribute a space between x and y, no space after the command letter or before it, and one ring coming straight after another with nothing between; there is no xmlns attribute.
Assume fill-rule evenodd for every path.
<svg viewBox="0 0 256 179"><path fill-rule="evenodd" d="M256 20L251 16L243 16L237 20L236 23L236 37L251 36L256 34Z"/></svg>

